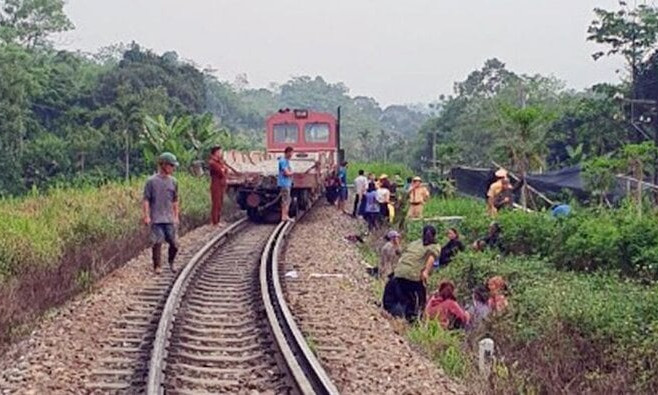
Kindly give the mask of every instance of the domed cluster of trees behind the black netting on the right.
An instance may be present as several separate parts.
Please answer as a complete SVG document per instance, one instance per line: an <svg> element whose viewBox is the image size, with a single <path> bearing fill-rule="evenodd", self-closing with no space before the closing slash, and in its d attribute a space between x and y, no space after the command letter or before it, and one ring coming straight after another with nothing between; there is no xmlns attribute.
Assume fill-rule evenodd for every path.
<svg viewBox="0 0 658 395"><path fill-rule="evenodd" d="M414 165L427 168L432 157L446 169L495 161L522 174L618 150L634 141L614 98L626 89L576 92L555 78L516 74L488 60L436 104L438 115L420 129Z"/></svg>

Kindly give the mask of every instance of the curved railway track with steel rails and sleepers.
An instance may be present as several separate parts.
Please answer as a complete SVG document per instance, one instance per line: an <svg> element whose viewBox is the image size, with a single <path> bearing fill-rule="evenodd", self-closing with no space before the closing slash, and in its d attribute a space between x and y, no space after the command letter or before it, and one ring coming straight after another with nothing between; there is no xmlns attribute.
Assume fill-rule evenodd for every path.
<svg viewBox="0 0 658 395"><path fill-rule="evenodd" d="M293 223L241 220L117 328L96 392L336 394L285 303L278 257ZM173 281L172 281L173 280Z"/></svg>

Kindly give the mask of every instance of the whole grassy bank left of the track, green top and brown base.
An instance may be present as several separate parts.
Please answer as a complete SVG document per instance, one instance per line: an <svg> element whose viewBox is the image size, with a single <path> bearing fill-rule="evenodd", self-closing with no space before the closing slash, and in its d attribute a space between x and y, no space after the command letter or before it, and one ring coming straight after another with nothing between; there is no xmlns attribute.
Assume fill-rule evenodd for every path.
<svg viewBox="0 0 658 395"><path fill-rule="evenodd" d="M180 233L208 220L208 181L178 174ZM0 201L0 343L147 247L144 179Z"/></svg>

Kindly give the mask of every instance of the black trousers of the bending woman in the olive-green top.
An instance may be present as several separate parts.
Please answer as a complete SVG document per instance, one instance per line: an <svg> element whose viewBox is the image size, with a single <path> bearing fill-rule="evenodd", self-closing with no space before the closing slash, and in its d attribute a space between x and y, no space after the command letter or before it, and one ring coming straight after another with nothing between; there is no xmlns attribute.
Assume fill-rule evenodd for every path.
<svg viewBox="0 0 658 395"><path fill-rule="evenodd" d="M384 308L396 317L405 317L409 322L417 319L427 303L427 291L422 281L393 277L389 283L384 290Z"/></svg>

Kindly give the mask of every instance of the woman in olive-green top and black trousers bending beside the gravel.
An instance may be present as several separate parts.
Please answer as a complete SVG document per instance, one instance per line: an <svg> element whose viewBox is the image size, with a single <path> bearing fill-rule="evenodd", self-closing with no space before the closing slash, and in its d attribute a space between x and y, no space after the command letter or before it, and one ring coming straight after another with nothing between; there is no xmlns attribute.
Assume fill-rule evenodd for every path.
<svg viewBox="0 0 658 395"><path fill-rule="evenodd" d="M427 279L441 248L436 245L436 228L426 225L423 238L402 251L394 275L384 290L384 308L396 317L414 321L427 300Z"/></svg>

